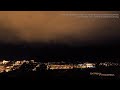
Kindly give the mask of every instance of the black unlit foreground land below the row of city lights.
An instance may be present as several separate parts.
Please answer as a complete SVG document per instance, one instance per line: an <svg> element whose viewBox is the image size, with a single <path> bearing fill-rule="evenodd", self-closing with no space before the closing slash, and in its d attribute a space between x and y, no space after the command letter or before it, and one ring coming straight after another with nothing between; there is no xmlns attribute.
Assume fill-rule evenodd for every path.
<svg viewBox="0 0 120 90"><path fill-rule="evenodd" d="M90 75L91 70L41 70L36 72L11 71L0 74L0 80L119 80L120 73L115 76ZM94 70L93 70L94 71Z"/></svg>

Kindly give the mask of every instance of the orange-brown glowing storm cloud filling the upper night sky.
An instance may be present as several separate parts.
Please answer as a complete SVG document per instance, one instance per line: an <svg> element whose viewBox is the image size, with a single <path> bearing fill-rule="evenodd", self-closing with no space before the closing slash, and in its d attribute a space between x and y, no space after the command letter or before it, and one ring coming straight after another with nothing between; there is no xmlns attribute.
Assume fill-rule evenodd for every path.
<svg viewBox="0 0 120 90"><path fill-rule="evenodd" d="M120 19L79 18L62 14L120 12L0 12L0 42L104 43L120 39Z"/></svg>

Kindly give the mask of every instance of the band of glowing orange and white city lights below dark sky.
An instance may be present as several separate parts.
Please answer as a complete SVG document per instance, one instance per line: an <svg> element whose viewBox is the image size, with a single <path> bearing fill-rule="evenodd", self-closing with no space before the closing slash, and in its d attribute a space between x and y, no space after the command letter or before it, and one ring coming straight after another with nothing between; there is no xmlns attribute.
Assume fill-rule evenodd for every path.
<svg viewBox="0 0 120 90"><path fill-rule="evenodd" d="M32 71L37 71L37 68L40 67L41 64L44 64L46 66L46 70L55 70L55 69L86 69L86 68L96 68L95 63L78 63L78 64L66 64L65 62L48 62L48 63L40 63L35 62L34 60L22 60L22 61L0 61L0 73L2 72L9 72L13 70L19 69L24 63L30 64L32 63L34 66L32 68ZM118 63L112 63L112 62L104 62L99 63L99 66L119 66ZM28 68L29 69L29 68Z"/></svg>

